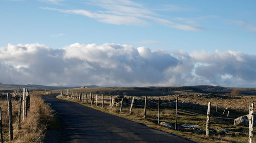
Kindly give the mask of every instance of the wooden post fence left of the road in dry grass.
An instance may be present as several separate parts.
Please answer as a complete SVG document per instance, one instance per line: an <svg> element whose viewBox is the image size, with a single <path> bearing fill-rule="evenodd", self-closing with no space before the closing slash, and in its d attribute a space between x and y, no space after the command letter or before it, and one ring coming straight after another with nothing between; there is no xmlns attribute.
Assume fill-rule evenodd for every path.
<svg viewBox="0 0 256 143"><path fill-rule="evenodd" d="M8 113L8 127L9 127L9 140L13 140L13 116L12 116L12 108L15 106L18 106L18 129L21 129L22 126L20 124L21 122L21 118L23 120L26 119L27 115L28 115L28 111L30 109L30 94L29 91L27 89L23 89L23 93L20 89L17 89L13 92L13 97L11 94L7 93L6 95L2 95L0 96L0 100L5 102L8 102L8 109L2 111L2 108L0 107L0 138L1 138L1 142L4 142L4 138L3 138L3 116L7 115ZM15 103L14 105L12 105L12 101L17 101L17 103ZM23 111L23 112L22 112ZM23 113L23 117L22 116ZM7 137L7 136L6 136ZM5 137L5 138L6 138Z"/></svg>

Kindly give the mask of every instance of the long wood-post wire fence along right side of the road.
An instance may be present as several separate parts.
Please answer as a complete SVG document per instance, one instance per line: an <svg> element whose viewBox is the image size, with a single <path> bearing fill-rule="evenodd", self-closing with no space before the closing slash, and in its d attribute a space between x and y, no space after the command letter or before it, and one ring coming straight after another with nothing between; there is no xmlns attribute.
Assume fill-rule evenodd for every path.
<svg viewBox="0 0 256 143"><path fill-rule="evenodd" d="M239 127L239 131L219 129L215 130L212 125L221 124L230 126L236 118L234 114L231 115L231 110L224 107L212 106L211 102L207 105L202 105L193 102L182 102L178 100L161 100L158 99L135 99L125 98L122 96L99 95L92 93L70 93L69 90L62 91L60 96L71 100L85 102L91 105L109 107L115 109L119 113L127 113L128 115L135 115L144 117L146 120L156 123L158 125L172 128L180 131L191 131L199 134L210 136L212 134L237 134L249 136L249 142L253 141L253 110L254 104L249 103L249 120L241 119L241 121L248 121L248 132L246 127ZM96 101L95 101L96 100ZM245 108L245 106L241 107Z"/></svg>

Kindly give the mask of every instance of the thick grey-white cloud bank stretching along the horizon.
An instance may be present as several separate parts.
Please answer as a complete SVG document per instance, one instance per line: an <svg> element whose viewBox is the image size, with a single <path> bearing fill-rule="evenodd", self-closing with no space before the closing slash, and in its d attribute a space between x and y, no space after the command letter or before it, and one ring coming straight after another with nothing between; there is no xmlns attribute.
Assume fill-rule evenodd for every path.
<svg viewBox="0 0 256 143"><path fill-rule="evenodd" d="M44 85L253 87L256 55L241 51L173 52L119 44L44 44L0 48L0 82Z"/></svg>

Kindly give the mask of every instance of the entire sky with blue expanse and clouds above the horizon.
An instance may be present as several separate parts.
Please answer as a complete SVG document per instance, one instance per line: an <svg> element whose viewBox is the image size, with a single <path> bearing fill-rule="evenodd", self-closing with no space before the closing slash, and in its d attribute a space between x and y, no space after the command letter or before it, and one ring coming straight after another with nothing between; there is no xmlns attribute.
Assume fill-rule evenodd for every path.
<svg viewBox="0 0 256 143"><path fill-rule="evenodd" d="M255 4L1 0L0 82L255 87Z"/></svg>

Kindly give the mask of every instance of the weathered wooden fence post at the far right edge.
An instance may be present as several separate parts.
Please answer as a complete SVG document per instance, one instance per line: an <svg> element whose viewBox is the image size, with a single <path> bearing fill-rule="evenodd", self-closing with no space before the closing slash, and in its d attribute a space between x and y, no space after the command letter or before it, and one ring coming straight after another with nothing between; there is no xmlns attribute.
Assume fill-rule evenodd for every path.
<svg viewBox="0 0 256 143"><path fill-rule="evenodd" d="M249 103L249 143L253 142L253 110L254 103Z"/></svg>

